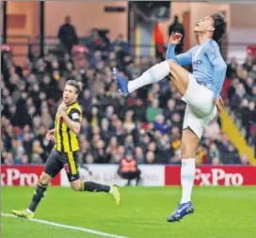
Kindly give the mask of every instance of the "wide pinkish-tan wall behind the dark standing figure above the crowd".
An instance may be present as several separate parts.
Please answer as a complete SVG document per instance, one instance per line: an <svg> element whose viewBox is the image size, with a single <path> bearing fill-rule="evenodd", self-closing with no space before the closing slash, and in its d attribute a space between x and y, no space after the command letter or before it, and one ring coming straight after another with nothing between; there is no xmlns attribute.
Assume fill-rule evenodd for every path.
<svg viewBox="0 0 256 238"><path fill-rule="evenodd" d="M119 33L127 38L127 2L45 2L45 34L56 36L58 27L66 15L72 16L72 24L79 36L85 36L93 27L110 29L110 38ZM125 12L104 12L104 7L124 7Z"/></svg>

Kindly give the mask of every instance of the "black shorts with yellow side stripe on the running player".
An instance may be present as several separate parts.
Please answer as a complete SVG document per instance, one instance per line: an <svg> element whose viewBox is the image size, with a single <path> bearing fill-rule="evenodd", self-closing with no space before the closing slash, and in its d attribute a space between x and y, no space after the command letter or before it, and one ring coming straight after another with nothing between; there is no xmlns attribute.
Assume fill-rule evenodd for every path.
<svg viewBox="0 0 256 238"><path fill-rule="evenodd" d="M46 161L44 172L55 178L63 167L70 182L80 178L78 151L62 152L53 150Z"/></svg>

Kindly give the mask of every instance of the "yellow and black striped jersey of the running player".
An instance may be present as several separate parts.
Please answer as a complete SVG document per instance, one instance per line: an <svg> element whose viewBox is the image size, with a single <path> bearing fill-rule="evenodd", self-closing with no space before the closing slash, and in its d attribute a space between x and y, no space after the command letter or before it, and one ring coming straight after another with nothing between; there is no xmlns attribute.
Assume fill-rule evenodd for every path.
<svg viewBox="0 0 256 238"><path fill-rule="evenodd" d="M70 104L67 108L67 115L70 119L81 122L83 117L81 106L77 102ZM55 129L56 151L71 152L79 150L77 136L60 117L58 110L56 112Z"/></svg>

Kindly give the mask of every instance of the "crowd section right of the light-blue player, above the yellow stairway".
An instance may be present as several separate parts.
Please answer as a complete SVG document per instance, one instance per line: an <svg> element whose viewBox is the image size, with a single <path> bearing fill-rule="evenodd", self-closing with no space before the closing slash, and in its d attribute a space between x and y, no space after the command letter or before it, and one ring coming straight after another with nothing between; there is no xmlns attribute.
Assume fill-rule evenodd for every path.
<svg viewBox="0 0 256 238"><path fill-rule="evenodd" d="M241 120L248 144L254 147L256 157L256 58L248 55L239 65L232 57L227 69L227 101L233 116Z"/></svg>

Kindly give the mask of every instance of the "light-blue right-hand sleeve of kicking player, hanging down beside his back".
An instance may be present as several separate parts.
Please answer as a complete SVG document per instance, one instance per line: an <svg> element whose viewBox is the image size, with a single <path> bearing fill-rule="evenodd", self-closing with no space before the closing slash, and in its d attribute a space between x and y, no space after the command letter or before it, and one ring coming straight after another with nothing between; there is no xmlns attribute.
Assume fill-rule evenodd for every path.
<svg viewBox="0 0 256 238"><path fill-rule="evenodd" d="M215 99L219 97L224 79L226 76L227 65L220 54L219 47L216 42L209 42L205 47L205 55L209 58L214 66L214 81L215 81Z"/></svg>

